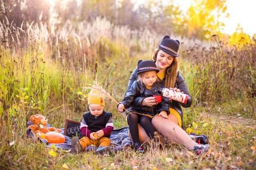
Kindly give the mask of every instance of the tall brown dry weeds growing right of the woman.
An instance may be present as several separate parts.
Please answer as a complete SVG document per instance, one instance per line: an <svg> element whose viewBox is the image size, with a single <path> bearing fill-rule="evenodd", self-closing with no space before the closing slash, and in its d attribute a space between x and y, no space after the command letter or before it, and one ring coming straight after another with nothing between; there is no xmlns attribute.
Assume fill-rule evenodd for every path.
<svg viewBox="0 0 256 170"><path fill-rule="evenodd" d="M256 106L256 45L225 44L218 36L210 48L198 44L187 52L191 60L193 93L198 104L213 106L234 101L248 104L245 115L255 118ZM204 104L203 104L204 103ZM243 110L240 110L243 111Z"/></svg>

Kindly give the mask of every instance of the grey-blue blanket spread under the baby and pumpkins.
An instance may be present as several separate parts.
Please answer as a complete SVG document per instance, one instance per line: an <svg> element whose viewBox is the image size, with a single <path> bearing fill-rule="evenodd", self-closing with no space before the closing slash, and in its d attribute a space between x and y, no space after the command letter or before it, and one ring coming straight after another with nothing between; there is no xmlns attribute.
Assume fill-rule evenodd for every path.
<svg viewBox="0 0 256 170"><path fill-rule="evenodd" d="M27 122L28 126L32 125L33 123L31 121ZM47 127L52 127L51 125L47 124ZM114 152L117 152L118 150L124 150L124 148L128 146L132 146L132 141L130 140L130 137L128 136L128 127L123 127L119 129L114 129L110 134L110 147ZM61 128L62 134L64 135L64 128ZM35 138L34 132L31 131L31 129L27 129L27 137ZM65 143L62 144L54 144L55 148L63 148L63 149L72 149L71 146L71 139L70 137L64 135L65 137ZM45 146L51 148L52 144L49 144L47 139L40 139L38 137L38 140L45 144ZM88 148L85 148L85 150L90 150L91 146L88 146Z"/></svg>

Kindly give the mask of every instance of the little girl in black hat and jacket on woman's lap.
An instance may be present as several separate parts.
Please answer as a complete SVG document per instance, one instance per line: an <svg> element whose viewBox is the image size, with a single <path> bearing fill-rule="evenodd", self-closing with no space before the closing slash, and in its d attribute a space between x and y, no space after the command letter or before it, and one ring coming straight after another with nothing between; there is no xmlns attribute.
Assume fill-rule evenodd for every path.
<svg viewBox="0 0 256 170"><path fill-rule="evenodd" d="M151 119L155 115L159 114L164 118L168 118L170 100L166 97L162 97L162 100L152 106L141 106L140 102L133 102L136 97L153 97L153 95L159 95L158 89L165 86L157 82L157 73L159 70L152 60L139 60L137 66L137 81L133 82L130 90L126 93L124 99L118 105L119 112L124 112L124 108L129 108L130 113L127 115L129 124L129 130L131 138L134 142L134 148L136 152L143 153L144 148L139 142L139 130L138 123L144 128L146 134L151 139L154 139L155 128L151 124Z"/></svg>

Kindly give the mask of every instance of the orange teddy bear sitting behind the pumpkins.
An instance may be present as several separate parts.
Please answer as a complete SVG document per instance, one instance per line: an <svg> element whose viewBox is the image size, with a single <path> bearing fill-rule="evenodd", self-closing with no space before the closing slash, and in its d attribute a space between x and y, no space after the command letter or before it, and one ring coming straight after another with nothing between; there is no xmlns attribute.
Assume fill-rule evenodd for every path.
<svg viewBox="0 0 256 170"><path fill-rule="evenodd" d="M30 128L31 131L35 133L36 137L51 131L61 132L61 129L56 129L54 127L47 128L46 124L48 119L43 115L31 115L30 121L33 123L33 125L28 126L27 129Z"/></svg>

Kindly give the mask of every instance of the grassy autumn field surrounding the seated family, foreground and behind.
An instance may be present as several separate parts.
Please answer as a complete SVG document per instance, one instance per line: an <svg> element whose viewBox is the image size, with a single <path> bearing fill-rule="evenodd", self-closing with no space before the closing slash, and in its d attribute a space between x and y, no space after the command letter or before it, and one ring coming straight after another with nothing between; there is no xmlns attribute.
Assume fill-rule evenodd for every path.
<svg viewBox="0 0 256 170"><path fill-rule="evenodd" d="M24 23L25 24L25 23ZM254 169L256 166L256 46L180 40L179 68L193 105L184 110L184 130L205 134L211 149L195 155L178 144L136 155L130 148L109 157L46 148L26 137L30 115L42 114L63 128L88 110L86 83L99 84L117 101L139 59L151 58L162 39L105 19L53 28L26 23L27 31L0 23L0 169ZM105 25L99 27L99 25ZM92 36L93 35L93 36ZM240 48L243 46L243 48ZM97 71L95 72L95 64ZM115 128L125 115L106 99Z"/></svg>

